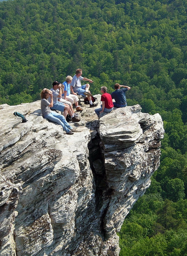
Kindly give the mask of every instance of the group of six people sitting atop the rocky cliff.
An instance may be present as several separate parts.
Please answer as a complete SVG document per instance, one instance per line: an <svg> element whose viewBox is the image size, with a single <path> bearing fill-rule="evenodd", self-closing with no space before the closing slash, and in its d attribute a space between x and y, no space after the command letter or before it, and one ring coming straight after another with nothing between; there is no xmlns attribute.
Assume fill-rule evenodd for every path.
<svg viewBox="0 0 187 256"><path fill-rule="evenodd" d="M93 83L91 79L82 76L82 70L77 69L74 77L68 75L63 84L54 81L53 87L49 90L44 88L41 92L41 110L42 116L52 122L58 123L63 127L66 134L72 135L76 130L66 121L66 116L71 116L72 122L79 122L80 119L74 115L73 104L75 104L76 111L82 111L83 109L79 106L78 95L87 97L90 103L90 107L96 107L97 104L92 102L92 94L89 91L90 85L81 85L81 81L89 81ZM120 87L124 87L120 89ZM95 109L95 113L99 117L102 112L111 112L113 107L125 107L127 105L125 92L130 90L129 86L120 84L114 85L115 91L112 94L107 93L107 87L101 87L101 108ZM112 101L115 99L115 102ZM60 111L62 114L56 112Z"/></svg>

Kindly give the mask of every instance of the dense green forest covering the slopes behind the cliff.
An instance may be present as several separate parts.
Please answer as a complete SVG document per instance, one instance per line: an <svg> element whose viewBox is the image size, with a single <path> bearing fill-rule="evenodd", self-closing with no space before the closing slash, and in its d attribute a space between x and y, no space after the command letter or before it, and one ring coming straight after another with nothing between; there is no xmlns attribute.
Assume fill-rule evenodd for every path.
<svg viewBox="0 0 187 256"><path fill-rule="evenodd" d="M77 68L127 104L160 113L165 135L152 183L126 217L120 256L187 256L186 0L0 2L0 104L40 99Z"/></svg>

